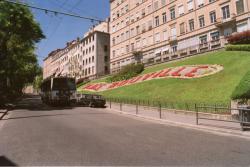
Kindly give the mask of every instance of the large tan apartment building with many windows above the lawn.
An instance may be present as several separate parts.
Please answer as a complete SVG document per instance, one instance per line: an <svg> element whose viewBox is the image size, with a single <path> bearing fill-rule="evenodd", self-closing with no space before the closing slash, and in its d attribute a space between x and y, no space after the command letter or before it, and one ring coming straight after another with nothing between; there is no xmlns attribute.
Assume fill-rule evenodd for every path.
<svg viewBox="0 0 250 167"><path fill-rule="evenodd" d="M221 48L250 29L249 0L110 0L111 72ZM138 61L138 60L137 60Z"/></svg>

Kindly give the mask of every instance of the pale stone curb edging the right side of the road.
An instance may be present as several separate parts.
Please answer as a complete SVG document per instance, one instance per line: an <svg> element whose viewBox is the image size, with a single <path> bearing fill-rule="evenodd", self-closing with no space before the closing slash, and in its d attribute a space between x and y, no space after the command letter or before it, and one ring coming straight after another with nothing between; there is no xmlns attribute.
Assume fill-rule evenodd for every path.
<svg viewBox="0 0 250 167"><path fill-rule="evenodd" d="M181 128L186 128L186 129L194 129L194 130L200 130L200 131L205 131L217 135L223 135L223 136L234 136L234 137L239 137L239 138L244 138L250 140L250 133L246 134L246 132L242 131L232 131L228 129L219 129L219 128L211 128L203 125L192 125L192 124L187 124L187 123L180 123L180 122L174 122L174 121L169 121L169 120L164 120L164 119L158 119L158 118L152 118L152 117L147 117L147 116L142 116L142 115L136 115L136 114L131 114L127 112L123 112L120 110L115 110L115 109L109 109L106 108L108 112L116 113L116 114L123 114L128 117L133 117L134 119L140 119L140 120L146 120L146 121L151 121L154 123L158 124L164 124L164 125L169 125L169 126L174 126L174 127L181 127Z"/></svg>

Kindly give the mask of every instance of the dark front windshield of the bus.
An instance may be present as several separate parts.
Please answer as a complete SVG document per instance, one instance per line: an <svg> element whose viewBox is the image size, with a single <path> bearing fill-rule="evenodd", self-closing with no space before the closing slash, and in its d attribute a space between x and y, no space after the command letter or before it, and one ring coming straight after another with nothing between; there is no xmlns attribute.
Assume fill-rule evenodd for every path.
<svg viewBox="0 0 250 167"><path fill-rule="evenodd" d="M75 80L72 78L54 78L52 90L76 90Z"/></svg>

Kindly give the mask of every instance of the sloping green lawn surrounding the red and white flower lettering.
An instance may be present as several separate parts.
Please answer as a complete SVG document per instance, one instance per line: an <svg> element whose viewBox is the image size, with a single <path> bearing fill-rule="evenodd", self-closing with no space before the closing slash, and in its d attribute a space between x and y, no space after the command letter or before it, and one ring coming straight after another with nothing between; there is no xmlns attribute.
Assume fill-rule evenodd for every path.
<svg viewBox="0 0 250 167"><path fill-rule="evenodd" d="M166 67L220 64L224 70L198 79L157 79L101 92L105 97L180 103L228 104L230 96L250 70L250 52L217 51L146 68L143 74ZM103 81L103 80L102 80Z"/></svg>

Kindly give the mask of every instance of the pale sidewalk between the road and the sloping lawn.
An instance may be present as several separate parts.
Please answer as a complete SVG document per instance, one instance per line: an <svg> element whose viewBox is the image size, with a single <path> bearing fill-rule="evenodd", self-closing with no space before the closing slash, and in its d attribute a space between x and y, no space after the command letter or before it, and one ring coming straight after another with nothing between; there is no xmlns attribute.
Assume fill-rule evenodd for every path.
<svg viewBox="0 0 250 167"><path fill-rule="evenodd" d="M139 117L142 119L157 121L172 126L223 133L225 135L230 134L250 139L250 131L241 131L239 123L199 119L198 125L196 125L195 112L178 112L167 109L162 109L162 111L159 112L158 108L138 106L138 112L136 113L135 105L122 104L121 107L120 104L112 102L110 108L110 103L107 104L107 110L109 111L115 111L137 118ZM120 109L122 109L122 111ZM200 114L199 117L221 117L222 119L229 120L230 116L218 116L218 114Z"/></svg>

